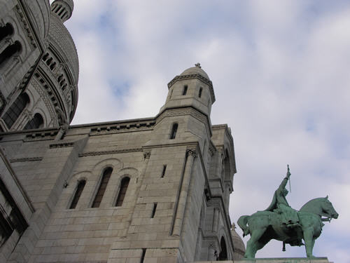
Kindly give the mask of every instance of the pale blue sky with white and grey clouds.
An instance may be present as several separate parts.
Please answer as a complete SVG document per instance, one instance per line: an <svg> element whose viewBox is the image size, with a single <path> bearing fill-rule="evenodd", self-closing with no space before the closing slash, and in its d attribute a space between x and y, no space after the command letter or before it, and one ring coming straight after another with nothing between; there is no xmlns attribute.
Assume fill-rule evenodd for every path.
<svg viewBox="0 0 350 263"><path fill-rule="evenodd" d="M314 255L350 262L350 1L75 0L65 24L80 60L73 124L155 116L200 62L211 122L235 140L231 220L267 208L289 163L290 205L328 194L339 213ZM257 257L305 255L281 247Z"/></svg>

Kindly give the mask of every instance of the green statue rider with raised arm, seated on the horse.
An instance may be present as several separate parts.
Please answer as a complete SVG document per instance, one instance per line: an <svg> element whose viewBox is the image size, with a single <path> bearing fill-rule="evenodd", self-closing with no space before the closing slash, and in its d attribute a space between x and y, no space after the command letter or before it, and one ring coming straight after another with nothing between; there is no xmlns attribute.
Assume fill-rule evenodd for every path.
<svg viewBox="0 0 350 263"><path fill-rule="evenodd" d="M287 227L296 227L299 225L299 217L297 216L297 211L290 207L287 202L286 195L288 190L286 189L286 184L289 180L290 172L289 167L286 177L283 179L279 188L274 191L274 197L272 202L265 211L271 211L281 214L281 220L283 224Z"/></svg>

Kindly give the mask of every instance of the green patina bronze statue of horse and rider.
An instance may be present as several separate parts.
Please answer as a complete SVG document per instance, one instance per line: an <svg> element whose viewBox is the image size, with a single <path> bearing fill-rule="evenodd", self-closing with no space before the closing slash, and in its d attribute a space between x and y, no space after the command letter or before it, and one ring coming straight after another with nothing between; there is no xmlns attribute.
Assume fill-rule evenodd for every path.
<svg viewBox="0 0 350 263"><path fill-rule="evenodd" d="M251 238L246 245L246 258L255 258L255 253L264 247L271 239L283 241L285 244L305 245L307 257L312 258L312 250L316 238L321 235L322 221L337 218L338 213L328 201L328 196L315 198L305 203L299 211L290 207L286 200L288 191L286 184L290 177L287 175L274 192L272 203L266 210L258 211L253 215L239 217L238 225L243 230L243 236ZM304 239L304 243L302 243Z"/></svg>

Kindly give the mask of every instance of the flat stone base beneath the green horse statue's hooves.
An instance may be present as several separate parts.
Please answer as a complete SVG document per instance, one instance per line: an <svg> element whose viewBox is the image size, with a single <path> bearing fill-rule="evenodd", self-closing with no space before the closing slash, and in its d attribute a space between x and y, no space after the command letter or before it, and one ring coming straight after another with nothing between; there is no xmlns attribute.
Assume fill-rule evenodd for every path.
<svg viewBox="0 0 350 263"><path fill-rule="evenodd" d="M333 263L329 262L327 257L271 257L271 258L253 258L239 259L235 263Z"/></svg>

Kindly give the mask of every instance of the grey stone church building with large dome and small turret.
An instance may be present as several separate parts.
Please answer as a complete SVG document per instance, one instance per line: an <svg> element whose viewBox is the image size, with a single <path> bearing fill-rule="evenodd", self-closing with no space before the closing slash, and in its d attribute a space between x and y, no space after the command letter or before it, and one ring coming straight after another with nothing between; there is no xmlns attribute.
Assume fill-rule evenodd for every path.
<svg viewBox="0 0 350 263"><path fill-rule="evenodd" d="M0 262L233 260L235 150L200 65L155 117L69 126L72 0L0 0Z"/></svg>

